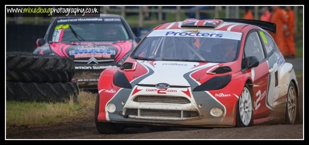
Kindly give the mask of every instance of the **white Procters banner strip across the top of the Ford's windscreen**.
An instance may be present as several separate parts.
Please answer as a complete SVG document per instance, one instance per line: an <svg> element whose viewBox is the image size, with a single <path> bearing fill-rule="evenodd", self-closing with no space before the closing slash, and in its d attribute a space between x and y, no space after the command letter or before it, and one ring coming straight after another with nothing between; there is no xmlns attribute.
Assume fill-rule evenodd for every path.
<svg viewBox="0 0 309 145"><path fill-rule="evenodd" d="M194 31L188 29L164 29L154 30L147 37L203 37L240 40L242 33L220 30Z"/></svg>

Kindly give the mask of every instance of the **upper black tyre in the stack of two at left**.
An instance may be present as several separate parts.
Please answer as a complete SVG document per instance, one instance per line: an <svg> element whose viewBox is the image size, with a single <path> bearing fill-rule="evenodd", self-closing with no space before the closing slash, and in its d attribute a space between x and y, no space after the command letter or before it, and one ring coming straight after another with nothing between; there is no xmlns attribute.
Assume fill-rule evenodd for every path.
<svg viewBox="0 0 309 145"><path fill-rule="evenodd" d="M74 61L56 55L6 54L6 81L67 83L74 76Z"/></svg>

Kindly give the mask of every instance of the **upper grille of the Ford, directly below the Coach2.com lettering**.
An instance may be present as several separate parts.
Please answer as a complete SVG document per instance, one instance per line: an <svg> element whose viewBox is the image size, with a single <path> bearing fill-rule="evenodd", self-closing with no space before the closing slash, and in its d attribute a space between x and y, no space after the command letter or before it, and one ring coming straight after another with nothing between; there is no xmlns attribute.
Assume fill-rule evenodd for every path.
<svg viewBox="0 0 309 145"><path fill-rule="evenodd" d="M189 104L190 101L184 97L171 96L137 96L135 102L139 103L173 103L173 104Z"/></svg>

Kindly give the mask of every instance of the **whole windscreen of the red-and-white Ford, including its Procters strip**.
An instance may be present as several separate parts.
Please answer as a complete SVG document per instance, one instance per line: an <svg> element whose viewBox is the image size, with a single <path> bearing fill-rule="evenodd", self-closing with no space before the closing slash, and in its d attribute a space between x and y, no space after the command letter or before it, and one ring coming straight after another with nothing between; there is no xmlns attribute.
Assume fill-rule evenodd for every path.
<svg viewBox="0 0 309 145"><path fill-rule="evenodd" d="M232 62L242 33L227 31L154 30L136 48L133 58L157 61Z"/></svg>

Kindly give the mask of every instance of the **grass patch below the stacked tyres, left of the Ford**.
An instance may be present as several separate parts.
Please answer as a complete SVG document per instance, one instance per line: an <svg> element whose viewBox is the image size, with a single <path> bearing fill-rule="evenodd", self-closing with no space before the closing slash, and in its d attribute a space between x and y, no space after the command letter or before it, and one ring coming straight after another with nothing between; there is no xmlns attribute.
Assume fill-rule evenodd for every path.
<svg viewBox="0 0 309 145"><path fill-rule="evenodd" d="M88 115L96 94L79 92L78 102L65 103L6 102L6 127L31 127L66 122Z"/></svg>

